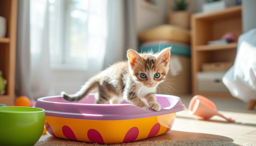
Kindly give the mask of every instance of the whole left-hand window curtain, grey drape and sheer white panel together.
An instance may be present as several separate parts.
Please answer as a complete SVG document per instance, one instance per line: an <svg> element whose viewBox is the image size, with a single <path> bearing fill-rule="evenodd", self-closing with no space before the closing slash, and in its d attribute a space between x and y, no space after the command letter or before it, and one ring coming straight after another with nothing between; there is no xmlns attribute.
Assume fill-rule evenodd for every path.
<svg viewBox="0 0 256 146"><path fill-rule="evenodd" d="M47 3L18 1L16 95L31 99L52 94Z"/></svg>

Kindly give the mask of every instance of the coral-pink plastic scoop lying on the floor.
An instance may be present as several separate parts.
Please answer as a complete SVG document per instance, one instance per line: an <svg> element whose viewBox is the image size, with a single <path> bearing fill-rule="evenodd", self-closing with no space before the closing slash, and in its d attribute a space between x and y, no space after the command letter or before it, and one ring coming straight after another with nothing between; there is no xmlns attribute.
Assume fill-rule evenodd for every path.
<svg viewBox="0 0 256 146"><path fill-rule="evenodd" d="M201 95L196 95L190 100L188 110L189 114L197 115L205 119L217 115L227 119L228 122L235 122L233 118L224 116L221 113L219 113L217 111L216 105L211 100Z"/></svg>

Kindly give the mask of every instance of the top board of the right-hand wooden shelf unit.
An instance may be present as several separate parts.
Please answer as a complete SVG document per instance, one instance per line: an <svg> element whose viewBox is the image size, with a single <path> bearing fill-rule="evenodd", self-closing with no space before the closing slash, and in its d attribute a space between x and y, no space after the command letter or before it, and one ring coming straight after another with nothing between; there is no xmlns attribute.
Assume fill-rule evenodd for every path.
<svg viewBox="0 0 256 146"><path fill-rule="evenodd" d="M202 12L194 14L196 19L206 19L206 20L216 20L225 19L230 17L241 16L242 6L228 7L223 10L213 11L213 12Z"/></svg>

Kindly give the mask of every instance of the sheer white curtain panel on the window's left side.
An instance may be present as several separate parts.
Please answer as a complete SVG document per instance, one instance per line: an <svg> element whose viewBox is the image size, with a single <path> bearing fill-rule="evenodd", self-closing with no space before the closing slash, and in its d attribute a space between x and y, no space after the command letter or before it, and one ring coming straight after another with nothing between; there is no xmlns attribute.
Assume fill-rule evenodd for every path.
<svg viewBox="0 0 256 146"><path fill-rule="evenodd" d="M52 95L49 64L48 0L30 1L30 97Z"/></svg>

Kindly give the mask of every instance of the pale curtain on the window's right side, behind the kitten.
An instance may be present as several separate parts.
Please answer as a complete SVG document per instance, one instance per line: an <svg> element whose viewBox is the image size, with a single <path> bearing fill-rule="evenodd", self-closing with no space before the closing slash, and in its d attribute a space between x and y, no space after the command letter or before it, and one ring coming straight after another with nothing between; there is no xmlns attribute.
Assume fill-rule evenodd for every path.
<svg viewBox="0 0 256 146"><path fill-rule="evenodd" d="M134 2L108 0L108 38L103 69L124 60L128 48L137 49Z"/></svg>

